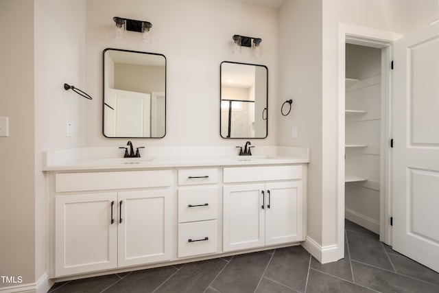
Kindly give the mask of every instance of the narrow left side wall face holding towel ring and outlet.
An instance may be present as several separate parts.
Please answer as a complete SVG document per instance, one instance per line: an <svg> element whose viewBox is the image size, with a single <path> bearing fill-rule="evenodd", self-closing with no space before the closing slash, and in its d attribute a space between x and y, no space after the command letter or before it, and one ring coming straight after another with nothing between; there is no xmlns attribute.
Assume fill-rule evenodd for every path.
<svg viewBox="0 0 439 293"><path fill-rule="evenodd" d="M85 0L35 1L35 259L36 280L47 270L48 202L41 154L84 146L88 99L65 91L85 89ZM66 137L66 122L73 137Z"/></svg>

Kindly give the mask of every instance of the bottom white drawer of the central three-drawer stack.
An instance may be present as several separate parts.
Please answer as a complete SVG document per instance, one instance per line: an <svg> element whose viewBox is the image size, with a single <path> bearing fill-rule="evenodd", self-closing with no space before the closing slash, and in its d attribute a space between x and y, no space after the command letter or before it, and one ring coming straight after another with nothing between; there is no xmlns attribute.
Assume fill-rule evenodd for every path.
<svg viewBox="0 0 439 293"><path fill-rule="evenodd" d="M217 220L178 224L178 257L218 251Z"/></svg>

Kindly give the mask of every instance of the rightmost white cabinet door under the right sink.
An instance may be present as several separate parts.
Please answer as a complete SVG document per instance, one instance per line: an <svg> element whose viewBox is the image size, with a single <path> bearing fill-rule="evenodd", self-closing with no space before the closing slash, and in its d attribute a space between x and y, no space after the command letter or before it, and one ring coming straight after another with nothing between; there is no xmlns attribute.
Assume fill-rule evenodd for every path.
<svg viewBox="0 0 439 293"><path fill-rule="evenodd" d="M302 181L267 183L265 189L265 244L302 241Z"/></svg>

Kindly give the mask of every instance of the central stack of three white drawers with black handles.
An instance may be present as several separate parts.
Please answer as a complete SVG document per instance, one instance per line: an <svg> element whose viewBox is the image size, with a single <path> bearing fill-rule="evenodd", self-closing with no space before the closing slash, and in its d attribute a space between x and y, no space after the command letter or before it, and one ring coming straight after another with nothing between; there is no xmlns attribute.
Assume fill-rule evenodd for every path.
<svg viewBox="0 0 439 293"><path fill-rule="evenodd" d="M218 252L218 169L178 170L178 257Z"/></svg>

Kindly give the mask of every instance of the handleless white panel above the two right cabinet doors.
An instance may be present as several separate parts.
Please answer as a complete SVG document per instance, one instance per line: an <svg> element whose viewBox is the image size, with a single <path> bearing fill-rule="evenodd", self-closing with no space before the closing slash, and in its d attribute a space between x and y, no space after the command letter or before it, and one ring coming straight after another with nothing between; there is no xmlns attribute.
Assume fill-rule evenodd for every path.
<svg viewBox="0 0 439 293"><path fill-rule="evenodd" d="M294 180L302 178L302 165L226 167L224 183Z"/></svg>

